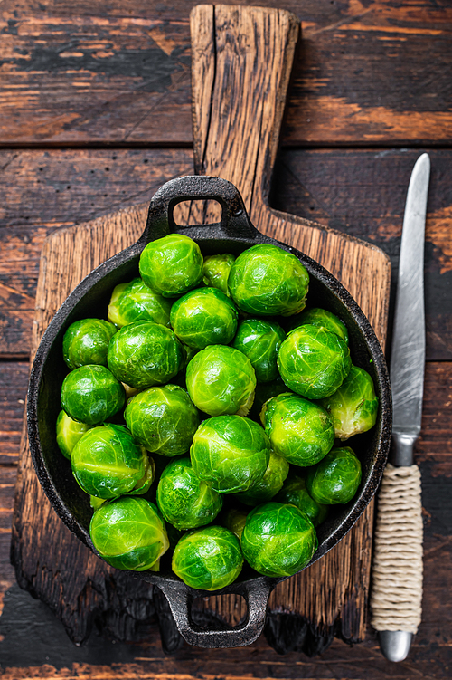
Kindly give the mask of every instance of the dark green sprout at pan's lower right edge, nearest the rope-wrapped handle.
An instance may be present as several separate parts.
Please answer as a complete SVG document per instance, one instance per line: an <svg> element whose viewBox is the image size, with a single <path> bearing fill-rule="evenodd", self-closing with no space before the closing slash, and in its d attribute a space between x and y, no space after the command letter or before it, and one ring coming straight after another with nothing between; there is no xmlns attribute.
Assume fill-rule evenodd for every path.
<svg viewBox="0 0 452 680"><path fill-rule="evenodd" d="M361 463L350 446L334 448L309 468L306 488L317 503L335 505L352 500L361 482Z"/></svg>

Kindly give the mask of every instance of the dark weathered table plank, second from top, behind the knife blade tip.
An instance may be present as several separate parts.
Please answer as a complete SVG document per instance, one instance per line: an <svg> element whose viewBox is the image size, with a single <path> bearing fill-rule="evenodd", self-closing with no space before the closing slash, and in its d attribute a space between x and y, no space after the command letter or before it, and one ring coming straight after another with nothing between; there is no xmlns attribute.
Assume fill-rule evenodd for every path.
<svg viewBox="0 0 452 680"><path fill-rule="evenodd" d="M416 150L284 150L271 205L368 239L397 272ZM431 150L426 294L428 359L452 359L452 151ZM193 173L189 149L1 151L0 356L28 356L42 242L61 226L148 200ZM108 169L107 169L108 168ZM67 188L70 187L70 188Z"/></svg>

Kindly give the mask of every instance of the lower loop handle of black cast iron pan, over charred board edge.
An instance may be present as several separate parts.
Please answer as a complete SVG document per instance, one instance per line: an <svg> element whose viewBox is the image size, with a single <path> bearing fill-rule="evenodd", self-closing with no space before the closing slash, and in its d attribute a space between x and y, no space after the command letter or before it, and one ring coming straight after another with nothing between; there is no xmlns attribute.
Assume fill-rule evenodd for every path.
<svg viewBox="0 0 452 680"><path fill-rule="evenodd" d="M238 583L234 592L242 595L248 607L245 622L237 627L218 627L204 629L192 618L192 604L195 595L182 581L166 580L158 587L164 592L173 614L175 624L189 645L218 648L250 645L263 630L267 617L268 596L272 590L268 579L252 579ZM205 594L205 593L204 593ZM210 593L213 595L214 593Z"/></svg>

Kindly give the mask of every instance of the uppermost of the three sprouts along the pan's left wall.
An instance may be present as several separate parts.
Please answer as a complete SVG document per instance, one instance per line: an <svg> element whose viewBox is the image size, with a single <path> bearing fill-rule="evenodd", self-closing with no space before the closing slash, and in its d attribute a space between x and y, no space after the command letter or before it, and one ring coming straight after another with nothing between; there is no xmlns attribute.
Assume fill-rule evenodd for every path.
<svg viewBox="0 0 452 680"><path fill-rule="evenodd" d="M88 364L107 366L108 343L117 329L103 319L74 321L62 339L62 356L70 369Z"/></svg>

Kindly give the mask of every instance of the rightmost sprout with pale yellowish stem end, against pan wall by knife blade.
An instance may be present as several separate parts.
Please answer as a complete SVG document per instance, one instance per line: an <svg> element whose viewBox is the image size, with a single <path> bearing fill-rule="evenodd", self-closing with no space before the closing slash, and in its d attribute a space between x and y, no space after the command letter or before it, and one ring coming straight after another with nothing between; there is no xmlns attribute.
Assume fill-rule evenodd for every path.
<svg viewBox="0 0 452 680"><path fill-rule="evenodd" d="M377 421L378 397L369 373L352 366L341 387L320 402L333 418L338 439L367 432Z"/></svg>

